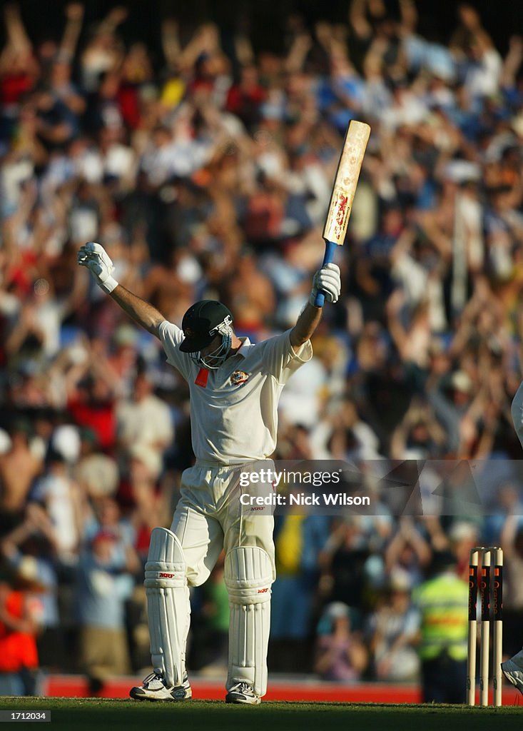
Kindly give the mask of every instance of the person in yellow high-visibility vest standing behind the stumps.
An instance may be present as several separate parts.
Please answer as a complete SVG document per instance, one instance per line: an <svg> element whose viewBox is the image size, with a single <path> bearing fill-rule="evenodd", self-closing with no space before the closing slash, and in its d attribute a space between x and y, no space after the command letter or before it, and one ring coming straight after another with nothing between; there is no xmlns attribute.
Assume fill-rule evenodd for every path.
<svg viewBox="0 0 523 731"><path fill-rule="evenodd" d="M450 551L435 553L432 569L413 594L420 614L423 701L464 703L468 585L457 575L457 557Z"/></svg>

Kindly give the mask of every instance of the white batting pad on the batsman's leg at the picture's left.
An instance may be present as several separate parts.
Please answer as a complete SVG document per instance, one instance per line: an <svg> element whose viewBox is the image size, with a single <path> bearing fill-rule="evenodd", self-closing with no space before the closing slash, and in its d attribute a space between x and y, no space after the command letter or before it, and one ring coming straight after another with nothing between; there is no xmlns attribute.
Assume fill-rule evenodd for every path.
<svg viewBox="0 0 523 731"><path fill-rule="evenodd" d="M144 586L153 667L169 686L179 686L186 675L191 605L183 550L172 531L155 528L150 534Z"/></svg>

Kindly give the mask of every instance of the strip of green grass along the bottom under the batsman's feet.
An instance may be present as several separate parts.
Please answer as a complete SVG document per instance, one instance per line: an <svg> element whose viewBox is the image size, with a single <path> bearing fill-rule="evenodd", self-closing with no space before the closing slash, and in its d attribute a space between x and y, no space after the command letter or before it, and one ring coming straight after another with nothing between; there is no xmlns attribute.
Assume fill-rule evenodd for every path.
<svg viewBox="0 0 523 731"><path fill-rule="evenodd" d="M264 702L245 708L220 701L133 702L73 698L0 698L0 711L51 711L49 726L71 731L507 731L521 730L523 707ZM23 722L25 725L31 721ZM6 728L21 722L8 721ZM1 730L2 727L0 727Z"/></svg>

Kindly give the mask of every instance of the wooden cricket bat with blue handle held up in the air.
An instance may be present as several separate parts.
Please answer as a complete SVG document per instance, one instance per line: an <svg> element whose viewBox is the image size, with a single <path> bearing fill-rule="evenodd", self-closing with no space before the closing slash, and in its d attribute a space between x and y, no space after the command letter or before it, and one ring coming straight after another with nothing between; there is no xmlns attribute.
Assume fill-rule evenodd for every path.
<svg viewBox="0 0 523 731"><path fill-rule="evenodd" d="M343 246L345 241L352 201L358 184L359 171L362 169L369 135L370 126L364 122L353 119L348 125L340 162L337 165L329 212L325 221L323 233L325 239L324 265L332 262L336 246ZM324 293L318 292L314 304L316 307L323 307L324 302Z"/></svg>

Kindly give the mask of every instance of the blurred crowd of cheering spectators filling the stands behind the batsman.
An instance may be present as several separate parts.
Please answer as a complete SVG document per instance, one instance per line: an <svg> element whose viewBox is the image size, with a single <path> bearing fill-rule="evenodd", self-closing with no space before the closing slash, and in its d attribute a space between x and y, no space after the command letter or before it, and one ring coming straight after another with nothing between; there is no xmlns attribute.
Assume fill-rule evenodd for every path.
<svg viewBox="0 0 523 731"><path fill-rule="evenodd" d="M502 56L469 4L450 38L429 37L413 0L394 15L351 0L339 24L291 15L280 53L253 49L243 27L225 51L218 26L171 17L148 48L127 42L126 7L84 27L81 3L60 39L35 45L23 7L3 12L0 644L26 640L22 659L0 661L0 692L37 649L42 667L85 672L91 692L148 665L148 539L193 458L186 385L77 267L79 246L102 243L116 279L172 322L215 298L240 336L285 330L321 261L352 118L372 134L337 254L342 299L283 391L275 457L489 460L489 515L279 518L270 667L415 679L412 596L435 552L454 552L462 577L478 541L503 542L514 575L523 561L510 413L523 39ZM222 573L194 602L189 664L209 672L226 647ZM519 649L510 572L505 605Z"/></svg>

